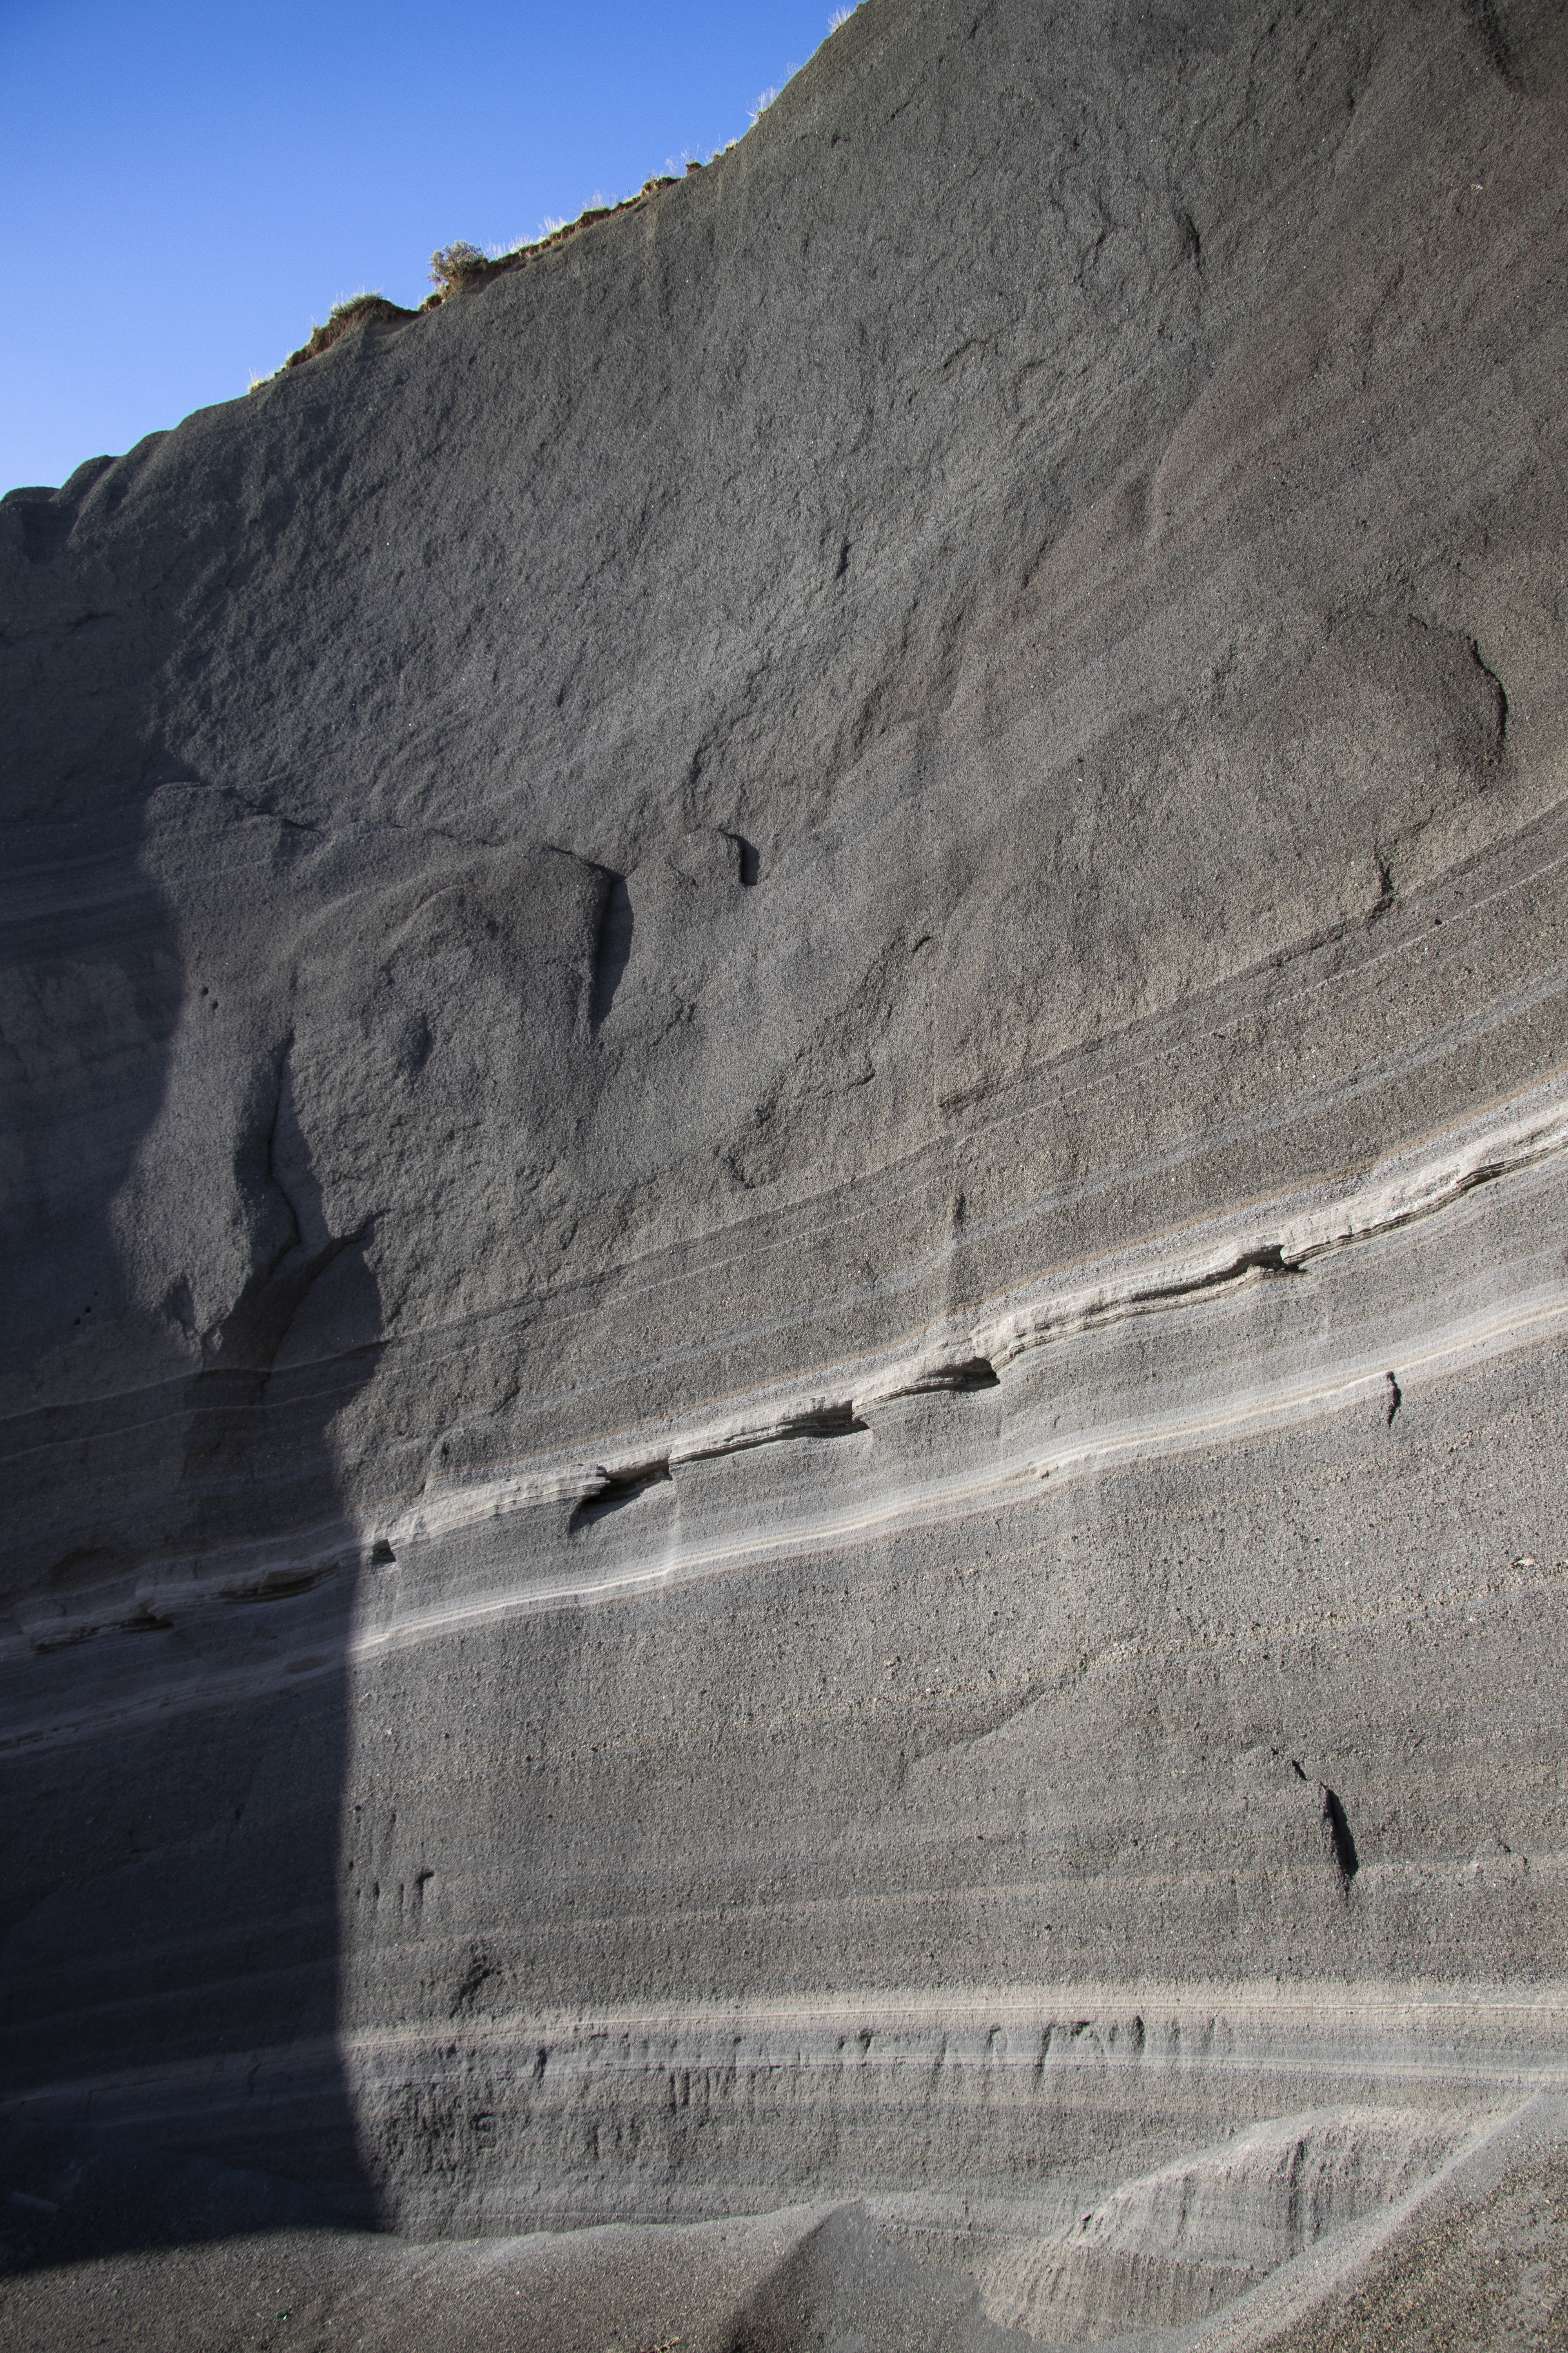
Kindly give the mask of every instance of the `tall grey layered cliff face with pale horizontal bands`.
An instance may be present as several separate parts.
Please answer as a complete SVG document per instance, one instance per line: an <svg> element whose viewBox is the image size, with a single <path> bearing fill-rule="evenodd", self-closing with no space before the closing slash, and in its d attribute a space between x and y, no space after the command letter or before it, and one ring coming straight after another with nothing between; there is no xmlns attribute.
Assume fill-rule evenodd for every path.
<svg viewBox="0 0 1568 2353"><path fill-rule="evenodd" d="M867 0L0 504L16 2247L1074 2341L1552 2087L1566 153L1523 0Z"/></svg>

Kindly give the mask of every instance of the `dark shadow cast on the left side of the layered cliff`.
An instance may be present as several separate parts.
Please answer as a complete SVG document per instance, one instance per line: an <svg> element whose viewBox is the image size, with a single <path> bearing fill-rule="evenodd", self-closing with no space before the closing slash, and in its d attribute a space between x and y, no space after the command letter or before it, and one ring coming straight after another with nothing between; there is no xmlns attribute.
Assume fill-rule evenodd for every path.
<svg viewBox="0 0 1568 2353"><path fill-rule="evenodd" d="M115 1198L190 984L125 800L7 833L7 1553L9 1598L42 1598L0 1652L16 2271L374 2219L336 2045L357 1546L329 1426L376 1348L322 1332L374 1332L378 1292L367 1233L301 1231L320 1193L296 1158L292 1235L228 1318L221 1369L136 1384Z"/></svg>

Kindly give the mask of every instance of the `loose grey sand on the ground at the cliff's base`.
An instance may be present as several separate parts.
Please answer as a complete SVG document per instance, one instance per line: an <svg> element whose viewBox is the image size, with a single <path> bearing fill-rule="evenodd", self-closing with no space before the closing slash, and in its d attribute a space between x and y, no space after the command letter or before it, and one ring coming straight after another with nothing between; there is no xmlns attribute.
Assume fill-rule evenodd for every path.
<svg viewBox="0 0 1568 2353"><path fill-rule="evenodd" d="M1490 2353L1568 2334L1568 2167L1561 2104L1528 2104L1474 2137L1392 2214L1286 2261L1262 2287L1187 2327L1067 2339L987 2318L973 2280L917 2259L863 2205L729 2224L607 2224L531 2238L409 2242L364 2231L277 2231L21 2273L7 2341L186 2346L193 2353L1027 2353L1098 2341L1190 2353L1352 2353L1363 2346ZM1001 2259L1006 2264L1006 2257ZM1039 2278L1039 2249L1016 2268ZM997 2266L992 2266L997 2268ZM1154 2266L1147 2266L1154 2268ZM1114 2304L1126 2289L1105 2280ZM1140 2285L1147 2285L1140 2282ZM1126 2313L1121 2313L1126 2318Z"/></svg>

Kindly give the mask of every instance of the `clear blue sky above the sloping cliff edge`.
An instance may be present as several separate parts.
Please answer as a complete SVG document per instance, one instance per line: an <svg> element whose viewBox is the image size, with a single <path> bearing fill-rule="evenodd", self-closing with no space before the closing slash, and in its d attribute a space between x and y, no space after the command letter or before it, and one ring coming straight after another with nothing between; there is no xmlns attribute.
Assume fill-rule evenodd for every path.
<svg viewBox="0 0 1568 2353"><path fill-rule="evenodd" d="M835 0L0 0L0 489L745 132Z"/></svg>

